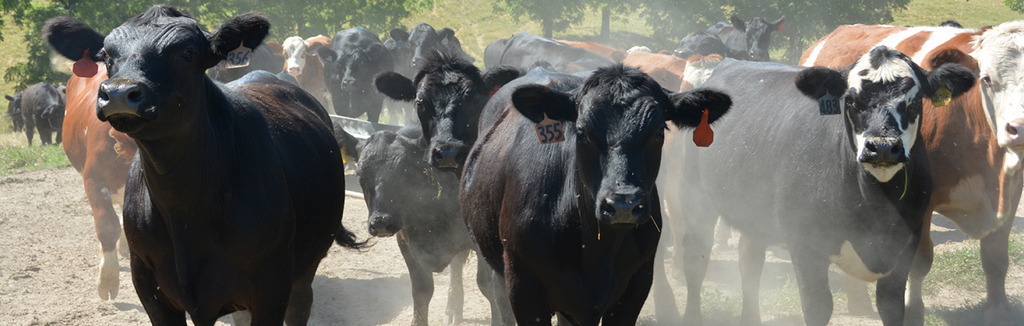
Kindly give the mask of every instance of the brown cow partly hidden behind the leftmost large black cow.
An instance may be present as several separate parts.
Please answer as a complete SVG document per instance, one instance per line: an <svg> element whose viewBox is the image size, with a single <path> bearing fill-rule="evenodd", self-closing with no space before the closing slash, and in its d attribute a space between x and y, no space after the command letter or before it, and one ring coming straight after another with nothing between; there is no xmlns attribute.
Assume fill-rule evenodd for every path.
<svg viewBox="0 0 1024 326"><path fill-rule="evenodd" d="M119 281L117 248L128 256L128 243L121 231L120 206L124 200L128 165L138 150L135 140L111 128L111 124L96 118L96 96L99 83L106 80L106 68L98 65L95 76L72 76L68 80L67 113L63 134L65 154L71 165L82 174L85 195L92 206L92 219L96 223L96 237L102 247L99 259L99 297L113 299L118 296Z"/></svg>

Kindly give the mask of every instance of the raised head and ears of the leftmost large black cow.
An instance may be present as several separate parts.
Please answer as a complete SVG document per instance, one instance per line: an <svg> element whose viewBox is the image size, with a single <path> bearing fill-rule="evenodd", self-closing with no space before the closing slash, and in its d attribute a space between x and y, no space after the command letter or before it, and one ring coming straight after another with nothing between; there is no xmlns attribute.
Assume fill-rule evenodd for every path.
<svg viewBox="0 0 1024 326"><path fill-rule="evenodd" d="M205 110L204 71L242 45L256 48L269 28L263 16L246 13L208 34L177 9L156 5L106 37L69 17L50 19L43 31L66 57L77 60L89 50L105 65L110 79L99 86L97 118L148 139L196 123Z"/></svg>

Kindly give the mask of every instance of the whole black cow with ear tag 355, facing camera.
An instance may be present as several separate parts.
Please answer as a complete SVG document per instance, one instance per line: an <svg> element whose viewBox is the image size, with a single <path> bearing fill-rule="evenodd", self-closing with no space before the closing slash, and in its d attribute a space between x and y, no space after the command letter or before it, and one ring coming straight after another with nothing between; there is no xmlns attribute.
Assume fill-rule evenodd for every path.
<svg viewBox="0 0 1024 326"><path fill-rule="evenodd" d="M573 325L636 324L663 226L654 178L666 121L693 127L708 108L714 122L729 105L709 90L667 94L622 65L586 80L537 69L499 90L460 185L466 226L504 275L493 288L508 301L492 303L493 323L511 324L511 304L519 325L550 325L555 313ZM565 141L539 142L545 117Z"/></svg>

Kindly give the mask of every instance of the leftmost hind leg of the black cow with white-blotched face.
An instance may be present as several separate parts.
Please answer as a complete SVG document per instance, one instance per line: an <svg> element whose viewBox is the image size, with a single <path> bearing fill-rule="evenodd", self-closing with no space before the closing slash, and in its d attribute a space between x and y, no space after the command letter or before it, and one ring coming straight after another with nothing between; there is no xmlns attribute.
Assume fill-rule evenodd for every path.
<svg viewBox="0 0 1024 326"><path fill-rule="evenodd" d="M686 232L683 235L683 271L686 273L686 312L683 313L684 325L701 325L703 317L700 313L700 288L708 274L708 262L711 260L712 237L715 232L714 216L698 216L688 214ZM677 249L679 250L679 249Z"/></svg>

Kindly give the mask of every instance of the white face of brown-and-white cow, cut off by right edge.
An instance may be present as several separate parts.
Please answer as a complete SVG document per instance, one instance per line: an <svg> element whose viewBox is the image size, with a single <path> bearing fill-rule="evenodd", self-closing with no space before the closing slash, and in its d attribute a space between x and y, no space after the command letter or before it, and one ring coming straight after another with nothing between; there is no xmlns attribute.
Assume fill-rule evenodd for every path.
<svg viewBox="0 0 1024 326"><path fill-rule="evenodd" d="M974 42L982 101L1000 147L1024 151L1024 22L985 31Z"/></svg>

